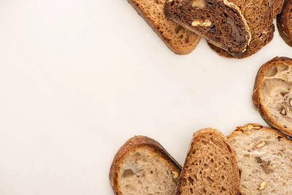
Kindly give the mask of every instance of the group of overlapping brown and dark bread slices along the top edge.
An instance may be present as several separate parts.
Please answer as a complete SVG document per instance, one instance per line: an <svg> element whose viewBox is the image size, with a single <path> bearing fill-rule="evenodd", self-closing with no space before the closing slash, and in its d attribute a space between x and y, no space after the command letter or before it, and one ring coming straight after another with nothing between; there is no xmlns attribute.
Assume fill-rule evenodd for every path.
<svg viewBox="0 0 292 195"><path fill-rule="evenodd" d="M292 0L128 2L176 54L189 54L202 37L220 56L247 58L274 38L275 17L280 35L292 46Z"/></svg>

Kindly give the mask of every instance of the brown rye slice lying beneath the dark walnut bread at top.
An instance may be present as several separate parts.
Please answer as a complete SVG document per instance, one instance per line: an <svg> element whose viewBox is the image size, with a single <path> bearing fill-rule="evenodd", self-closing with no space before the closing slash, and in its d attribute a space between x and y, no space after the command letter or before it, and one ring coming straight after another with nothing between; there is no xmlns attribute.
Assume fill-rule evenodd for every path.
<svg viewBox="0 0 292 195"><path fill-rule="evenodd" d="M211 42L208 45L220 56L243 59L252 56L266 46L274 38L275 27L273 20L282 10L284 0L232 0L245 17L252 34L246 51L239 56L230 55Z"/></svg>

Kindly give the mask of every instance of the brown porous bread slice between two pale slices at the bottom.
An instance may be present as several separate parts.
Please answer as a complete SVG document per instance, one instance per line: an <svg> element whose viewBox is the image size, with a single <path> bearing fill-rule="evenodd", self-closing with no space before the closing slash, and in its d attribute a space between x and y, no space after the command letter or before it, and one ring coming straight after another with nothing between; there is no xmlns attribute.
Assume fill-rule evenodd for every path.
<svg viewBox="0 0 292 195"><path fill-rule="evenodd" d="M194 134L176 195L239 195L235 152L218 130Z"/></svg>

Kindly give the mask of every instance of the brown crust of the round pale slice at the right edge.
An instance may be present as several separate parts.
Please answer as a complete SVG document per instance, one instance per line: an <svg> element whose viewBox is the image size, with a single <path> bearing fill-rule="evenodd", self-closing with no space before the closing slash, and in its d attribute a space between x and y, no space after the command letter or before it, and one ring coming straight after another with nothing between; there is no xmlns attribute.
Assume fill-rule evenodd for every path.
<svg viewBox="0 0 292 195"><path fill-rule="evenodd" d="M275 57L270 61L263 64L256 75L255 85L254 85L254 92L253 92L253 102L256 110L260 113L261 117L270 125L271 127L278 129L279 131L283 132L288 136L292 136L292 130L285 129L282 125L277 123L271 114L262 106L262 99L260 98L260 87L264 79L265 70L274 62L278 61L290 61L292 63L292 59L286 57Z"/></svg>

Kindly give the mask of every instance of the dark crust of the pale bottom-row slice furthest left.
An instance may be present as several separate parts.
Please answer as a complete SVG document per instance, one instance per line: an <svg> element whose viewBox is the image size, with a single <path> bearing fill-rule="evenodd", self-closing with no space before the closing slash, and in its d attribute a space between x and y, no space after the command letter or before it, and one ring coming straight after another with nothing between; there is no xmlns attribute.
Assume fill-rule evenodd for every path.
<svg viewBox="0 0 292 195"><path fill-rule="evenodd" d="M124 157L127 156L132 150L147 147L150 150L155 150L161 158L168 162L171 166L178 170L182 170L182 166L164 149L164 147L149 137L135 136L130 138L114 156L112 164L110 166L110 185L115 195L122 195L118 186L118 180L115 177L118 166L123 161Z"/></svg>

